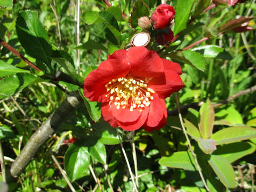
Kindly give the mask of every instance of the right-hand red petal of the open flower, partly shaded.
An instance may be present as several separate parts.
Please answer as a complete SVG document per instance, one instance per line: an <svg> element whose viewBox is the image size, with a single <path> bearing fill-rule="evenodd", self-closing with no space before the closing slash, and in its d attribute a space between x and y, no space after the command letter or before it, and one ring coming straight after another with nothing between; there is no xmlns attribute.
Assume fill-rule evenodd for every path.
<svg viewBox="0 0 256 192"><path fill-rule="evenodd" d="M170 97L184 86L180 76L173 70L165 70L164 76L156 77L148 82L148 87L158 93L159 98Z"/></svg>

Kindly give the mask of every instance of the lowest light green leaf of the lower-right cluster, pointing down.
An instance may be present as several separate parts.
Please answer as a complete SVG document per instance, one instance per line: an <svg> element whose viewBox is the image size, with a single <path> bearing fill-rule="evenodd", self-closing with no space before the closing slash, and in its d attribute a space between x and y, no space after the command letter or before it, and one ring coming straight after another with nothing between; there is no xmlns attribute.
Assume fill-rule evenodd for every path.
<svg viewBox="0 0 256 192"><path fill-rule="evenodd" d="M227 188L235 188L235 172L226 158L211 155L208 162L223 185Z"/></svg>

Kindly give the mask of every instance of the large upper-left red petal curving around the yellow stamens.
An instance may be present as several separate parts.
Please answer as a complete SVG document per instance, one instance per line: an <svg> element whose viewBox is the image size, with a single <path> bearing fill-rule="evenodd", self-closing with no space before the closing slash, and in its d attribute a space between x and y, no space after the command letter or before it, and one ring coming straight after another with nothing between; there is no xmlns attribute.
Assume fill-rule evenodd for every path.
<svg viewBox="0 0 256 192"><path fill-rule="evenodd" d="M98 69L91 71L84 81L84 95L90 101L107 102L109 98L105 95L106 83L111 79L125 77L129 73L131 66L122 59L107 59L100 63Z"/></svg>

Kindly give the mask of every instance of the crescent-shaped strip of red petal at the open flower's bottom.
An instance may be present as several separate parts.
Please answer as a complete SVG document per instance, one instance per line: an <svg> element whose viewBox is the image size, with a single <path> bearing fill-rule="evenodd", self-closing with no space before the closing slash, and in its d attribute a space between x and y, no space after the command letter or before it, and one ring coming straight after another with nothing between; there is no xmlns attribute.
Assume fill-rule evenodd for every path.
<svg viewBox="0 0 256 192"><path fill-rule="evenodd" d="M135 122L117 122L118 125L123 129L123 130L126 130L126 131L134 131L134 130L137 130L137 129L140 129L140 127L145 123L147 117L148 117L148 111L149 111L149 108L146 107L142 110L141 112L141 116L139 119L137 119L137 121Z"/></svg>

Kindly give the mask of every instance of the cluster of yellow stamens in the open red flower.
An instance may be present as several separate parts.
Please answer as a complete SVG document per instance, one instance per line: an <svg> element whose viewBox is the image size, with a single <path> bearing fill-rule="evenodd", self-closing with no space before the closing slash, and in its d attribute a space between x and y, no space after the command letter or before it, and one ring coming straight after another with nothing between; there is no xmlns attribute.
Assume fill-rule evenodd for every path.
<svg viewBox="0 0 256 192"><path fill-rule="evenodd" d="M148 85L141 79L132 77L121 77L112 79L105 87L110 98L110 102L114 101L117 109L130 108L130 111L143 108L150 105L150 101L154 99L152 96L155 91L148 88Z"/></svg>

